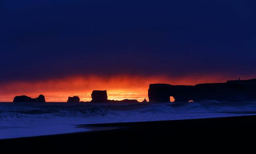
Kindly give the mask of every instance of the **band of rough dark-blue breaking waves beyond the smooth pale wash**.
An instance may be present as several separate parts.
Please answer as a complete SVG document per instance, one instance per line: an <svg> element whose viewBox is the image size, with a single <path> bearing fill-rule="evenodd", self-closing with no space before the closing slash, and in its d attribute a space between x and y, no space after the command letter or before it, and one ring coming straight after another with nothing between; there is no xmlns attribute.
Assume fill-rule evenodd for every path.
<svg viewBox="0 0 256 154"><path fill-rule="evenodd" d="M148 103L132 105L41 105L15 107L1 106L0 118L8 115L30 117L48 116L107 116L134 114L176 114L176 113L216 113L227 111L256 110L256 103Z"/></svg>

